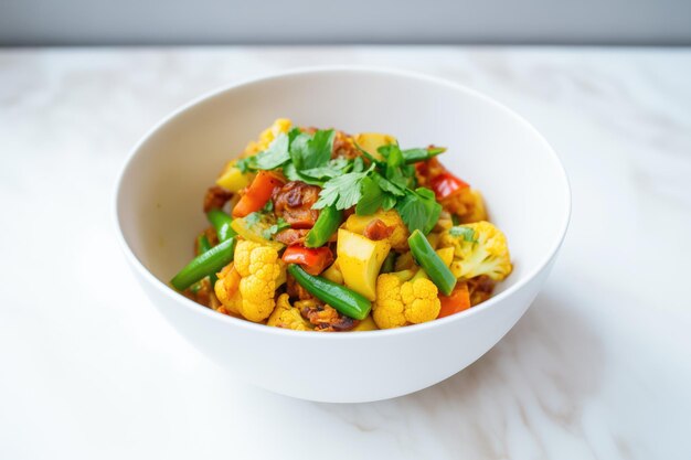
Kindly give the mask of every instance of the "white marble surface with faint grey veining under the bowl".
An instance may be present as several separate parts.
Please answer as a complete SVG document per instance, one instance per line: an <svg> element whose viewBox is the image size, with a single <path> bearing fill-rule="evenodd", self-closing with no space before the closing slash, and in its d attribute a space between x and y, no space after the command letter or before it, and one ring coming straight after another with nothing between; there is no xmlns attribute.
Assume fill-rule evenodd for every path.
<svg viewBox="0 0 691 460"><path fill-rule="evenodd" d="M211 364L130 276L115 175L200 93L313 64L427 72L560 152L572 226L544 291L476 364L366 405ZM0 458L691 458L691 51L0 51Z"/></svg>

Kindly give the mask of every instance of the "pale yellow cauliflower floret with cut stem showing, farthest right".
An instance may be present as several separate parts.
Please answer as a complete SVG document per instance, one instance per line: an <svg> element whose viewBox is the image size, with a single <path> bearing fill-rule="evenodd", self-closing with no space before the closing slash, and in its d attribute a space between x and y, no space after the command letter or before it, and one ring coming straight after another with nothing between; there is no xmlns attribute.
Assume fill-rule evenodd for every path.
<svg viewBox="0 0 691 460"><path fill-rule="evenodd" d="M507 237L489 222L453 227L442 233L440 246L454 248L450 269L456 278L487 275L495 281L501 281L511 274Z"/></svg>

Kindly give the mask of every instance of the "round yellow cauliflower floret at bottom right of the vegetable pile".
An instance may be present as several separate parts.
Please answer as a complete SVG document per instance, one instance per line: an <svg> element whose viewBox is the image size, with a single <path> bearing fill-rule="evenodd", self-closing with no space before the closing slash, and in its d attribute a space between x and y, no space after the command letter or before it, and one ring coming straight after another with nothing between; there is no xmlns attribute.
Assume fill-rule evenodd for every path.
<svg viewBox="0 0 691 460"><path fill-rule="evenodd" d="M405 270L383 274L376 279L372 318L380 329L427 322L439 314L442 303L437 287L423 277L410 279L411 275L410 270Z"/></svg>

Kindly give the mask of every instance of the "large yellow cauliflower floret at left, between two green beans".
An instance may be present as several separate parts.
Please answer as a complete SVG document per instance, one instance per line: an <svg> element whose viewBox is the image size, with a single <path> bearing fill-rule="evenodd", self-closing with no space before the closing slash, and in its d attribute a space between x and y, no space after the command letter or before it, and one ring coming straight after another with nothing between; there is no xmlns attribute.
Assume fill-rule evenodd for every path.
<svg viewBox="0 0 691 460"><path fill-rule="evenodd" d="M259 322L274 311L274 296L281 278L285 279L285 266L275 247L241 240L235 261L221 270L214 291L228 311Z"/></svg>

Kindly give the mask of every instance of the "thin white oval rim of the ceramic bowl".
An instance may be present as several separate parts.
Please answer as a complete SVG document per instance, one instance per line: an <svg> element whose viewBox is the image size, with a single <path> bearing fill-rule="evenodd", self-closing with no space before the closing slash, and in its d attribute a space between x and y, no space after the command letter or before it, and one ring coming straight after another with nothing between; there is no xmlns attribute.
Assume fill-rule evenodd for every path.
<svg viewBox="0 0 691 460"><path fill-rule="evenodd" d="M354 74L361 74L361 75L370 74L370 75L390 76L390 77L396 77L396 78L407 78L407 79L427 83L432 85L443 86L443 87L446 87L448 89L453 89L456 92L466 93L470 96L480 98L487 104L493 106L496 109L503 111L506 115L508 115L509 117L513 118L517 122L522 125L530 132L535 135L536 139L543 145L543 147L545 147L546 151L552 157L552 160L555 162L557 167L556 168L557 174L560 175L561 182L564 186L565 199L564 199L563 206L566 211L560 224L559 238L552 245L552 247L550 247L546 256L543 257L542 260L540 260L540 263L535 266L535 268L533 268L531 271L523 275L522 279L517 281L513 286L511 286L507 290L499 292L496 296L492 296L489 300L471 309L461 311L456 314L451 314L446 318L436 319L434 321L428 321L428 322L421 323L421 324L412 324L405 328L383 329L383 330L374 330L374 331L358 331L358 333L355 334L351 334L351 333L310 334L310 333L305 333L306 331L294 331L294 330L284 329L284 328L270 328L262 323L255 323L248 320L234 318L227 314L221 314L209 308L204 308L203 306L200 306L199 303L194 302L191 299L188 299L187 297L182 296L181 293L176 291L173 288L171 288L163 281L158 279L156 276L153 276L153 274L151 274L149 269L146 268L143 264L139 260L139 258L135 255L129 244L125 239L125 235L123 232L123 227L120 225L120 218L119 218L119 213L118 213L118 207L119 207L119 202L120 202L120 191L123 189L121 185L123 185L124 178L126 173L129 171L129 168L131 168L132 160L137 157L141 147L158 130L160 130L163 126L168 125L174 118L180 117L182 114L184 114L189 109L202 103L205 103L210 99L213 99L224 93L241 90L242 88L247 87L247 86L264 84L267 82L278 81L281 78L286 78L286 77L320 75L320 74L338 74L338 73L354 73ZM172 301L181 302L185 308L191 309L194 312L193 314L209 315L210 318L215 319L217 321L225 322L226 324L231 327L240 327L240 328L247 329L249 331L256 331L256 332L265 333L265 334L279 334L279 335L286 334L290 338L305 338L305 340L358 340L358 339L364 339L364 338L372 340L372 339L378 339L378 338L385 339L391 335L422 333L428 329L443 328L456 321L464 321L472 315L480 314L485 310L495 308L503 299L511 297L514 292L521 290L525 285L532 281L552 261L552 259L555 257L555 255L557 254L560 247L562 246L564 242L566 232L568 229L568 224L571 221L571 213L572 213L571 185L568 181L568 175L566 174L566 171L564 169L564 165L561 159L556 154L554 148L552 148L552 146L542 136L542 133L538 131L538 129L533 127L521 115L517 114L509 107L497 101L492 97L489 97L480 93L477 89L472 89L466 85L455 83L443 77L437 77L437 76L433 76L433 75L428 75L428 74L424 74L419 72L406 71L406 69L401 69L401 68L393 68L393 67L385 67L385 66L368 66L368 65L319 65L319 66L295 67L295 68L290 68L286 71L269 72L269 73L264 73L262 75L254 76L254 77L242 78L237 82L225 84L220 87L215 87L209 92L205 92L201 94L200 96L193 98L192 100L185 104L182 104L181 106L172 110L169 115L164 116L161 120L155 124L149 130L147 130L143 133L143 136L139 138L139 140L130 149L129 153L127 154L127 158L125 159L123 165L120 167L119 173L116 178L114 189L115 190L113 193L114 200L113 200L113 206L111 206L111 210L113 210L111 216L115 222L118 243L123 252L125 253L127 260L130 263L130 265L135 267L136 271L143 279L146 279L147 282L149 282L152 287L161 291L164 296L170 298Z"/></svg>

